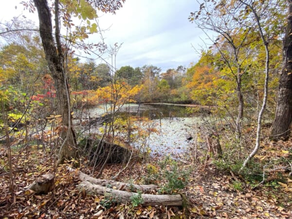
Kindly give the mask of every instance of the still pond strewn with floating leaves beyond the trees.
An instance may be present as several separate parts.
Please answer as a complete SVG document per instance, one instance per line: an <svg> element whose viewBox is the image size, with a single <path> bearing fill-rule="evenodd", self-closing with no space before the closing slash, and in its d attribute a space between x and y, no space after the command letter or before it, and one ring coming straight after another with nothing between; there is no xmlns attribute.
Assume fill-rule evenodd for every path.
<svg viewBox="0 0 292 219"><path fill-rule="evenodd" d="M100 117L106 112L105 108L102 106L90 109L86 116ZM202 117L207 110L193 111L185 105L127 104L119 110L119 116L123 117L127 112L150 119L147 127L157 130L150 134L147 142L152 150L151 154L179 158L193 146L190 137L195 138L197 127L203 123Z"/></svg>

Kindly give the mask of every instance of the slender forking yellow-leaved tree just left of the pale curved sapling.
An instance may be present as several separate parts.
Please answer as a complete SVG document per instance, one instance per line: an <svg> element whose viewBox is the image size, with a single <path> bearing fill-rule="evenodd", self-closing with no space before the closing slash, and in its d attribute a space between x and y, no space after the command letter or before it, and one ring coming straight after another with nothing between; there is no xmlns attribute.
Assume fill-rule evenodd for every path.
<svg viewBox="0 0 292 219"><path fill-rule="evenodd" d="M242 94L242 76L248 70L246 59L249 53L243 48L250 33L250 28L237 22L238 7L225 6L225 3L203 1L200 10L191 13L189 20L201 28L213 43L213 47L219 51L222 61L228 72L236 81L238 112L236 128L238 137L241 137L241 123L243 118L244 99ZM214 39L206 31L218 34Z"/></svg>

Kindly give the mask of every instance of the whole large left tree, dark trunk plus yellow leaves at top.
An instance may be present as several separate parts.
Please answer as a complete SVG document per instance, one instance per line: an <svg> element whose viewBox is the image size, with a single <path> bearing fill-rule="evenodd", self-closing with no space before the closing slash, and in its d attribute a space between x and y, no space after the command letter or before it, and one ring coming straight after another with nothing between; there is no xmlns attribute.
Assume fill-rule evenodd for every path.
<svg viewBox="0 0 292 219"><path fill-rule="evenodd" d="M122 0L123 1L123 0ZM114 12L119 9L122 4L120 0L108 0L106 2L99 0L54 0L54 8L50 8L47 0L33 0L39 18L39 32L42 39L43 48L48 62L49 69L55 81L57 113L62 115L62 125L64 130L61 134L63 139L62 146L59 151L58 163L65 158L76 157L76 138L72 126L71 108L70 108L70 90L66 72L66 54L68 52L67 43L77 43L77 40L83 42L88 37L88 33L97 31L97 24L91 24L91 20L97 18L96 9L104 12ZM25 3L27 6L32 2ZM55 15L55 24L52 23L51 12ZM60 24L71 30L74 15L79 19L88 21L85 26L76 27L69 35L70 41L63 43L60 33ZM53 27L55 34L53 32ZM79 41L80 42L80 41ZM55 47L56 45L56 47ZM78 44L80 45L80 44ZM82 44L81 44L82 45ZM83 44L84 49L89 46Z"/></svg>

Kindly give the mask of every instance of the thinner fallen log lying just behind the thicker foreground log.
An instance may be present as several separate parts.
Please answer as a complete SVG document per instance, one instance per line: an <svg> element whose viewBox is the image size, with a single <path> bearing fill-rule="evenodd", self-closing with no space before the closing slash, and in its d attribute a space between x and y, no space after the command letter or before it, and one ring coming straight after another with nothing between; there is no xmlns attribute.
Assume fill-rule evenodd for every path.
<svg viewBox="0 0 292 219"><path fill-rule="evenodd" d="M70 166L66 167L67 170L70 172L76 171ZM117 182L113 180L101 180L101 179L96 179L93 178L85 173L82 173L81 171L78 171L79 178L81 181L88 181L93 184L101 185L101 186L107 186L110 188L117 188L118 190L127 190L131 192L136 192L136 191L142 191L142 192L149 192L151 190L157 190L158 185L137 185L137 184L132 184L132 183L122 183L122 182Z"/></svg>

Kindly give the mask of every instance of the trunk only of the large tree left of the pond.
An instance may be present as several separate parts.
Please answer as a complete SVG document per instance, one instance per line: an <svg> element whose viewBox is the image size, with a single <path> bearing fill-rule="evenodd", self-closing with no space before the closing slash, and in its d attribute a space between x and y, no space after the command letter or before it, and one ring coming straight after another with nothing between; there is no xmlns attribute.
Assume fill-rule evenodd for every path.
<svg viewBox="0 0 292 219"><path fill-rule="evenodd" d="M37 7L40 37L45 51L46 60L55 82L57 113L62 115L62 125L66 127L60 133L61 138L64 140L58 158L58 163L61 163L65 158L76 157L76 149L74 147L76 145L76 139L75 132L71 126L70 96L66 73L63 68L63 51L61 49L60 37L58 34L58 13L55 13L56 49L55 40L53 38L51 11L48 7L48 2L47 0L34 0L34 2ZM55 0L55 11L58 12L58 0Z"/></svg>

